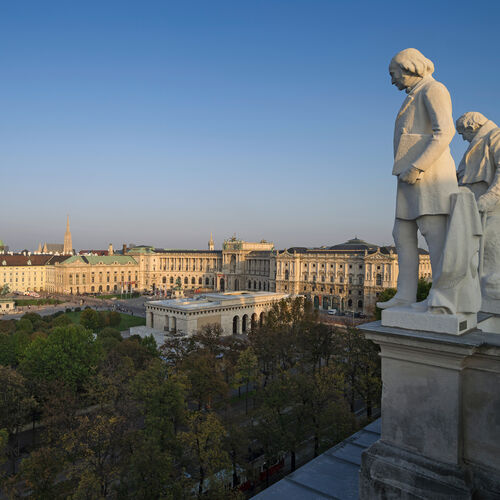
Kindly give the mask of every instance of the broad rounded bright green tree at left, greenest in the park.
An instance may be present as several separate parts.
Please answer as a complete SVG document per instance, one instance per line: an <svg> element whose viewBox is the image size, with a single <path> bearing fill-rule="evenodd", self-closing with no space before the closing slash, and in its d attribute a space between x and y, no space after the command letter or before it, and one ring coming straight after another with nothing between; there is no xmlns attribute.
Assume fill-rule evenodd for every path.
<svg viewBox="0 0 500 500"><path fill-rule="evenodd" d="M56 327L47 338L36 338L26 349L20 369L30 379L61 380L81 389L95 372L102 349L81 325Z"/></svg>

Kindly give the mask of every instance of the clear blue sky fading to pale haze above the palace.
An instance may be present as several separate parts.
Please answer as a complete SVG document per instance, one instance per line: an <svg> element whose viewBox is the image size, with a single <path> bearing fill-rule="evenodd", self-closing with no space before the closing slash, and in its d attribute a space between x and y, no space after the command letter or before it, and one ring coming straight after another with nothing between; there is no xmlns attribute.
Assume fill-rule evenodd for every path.
<svg viewBox="0 0 500 500"><path fill-rule="evenodd" d="M500 2L0 0L0 239L392 242L387 67L500 123ZM458 162L465 143L455 136Z"/></svg>

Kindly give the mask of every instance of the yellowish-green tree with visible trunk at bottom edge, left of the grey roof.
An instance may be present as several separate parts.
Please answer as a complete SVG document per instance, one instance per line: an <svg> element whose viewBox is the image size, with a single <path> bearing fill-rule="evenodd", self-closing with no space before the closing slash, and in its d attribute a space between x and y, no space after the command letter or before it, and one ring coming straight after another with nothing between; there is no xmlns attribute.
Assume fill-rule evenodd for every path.
<svg viewBox="0 0 500 500"><path fill-rule="evenodd" d="M180 434L186 453L198 470L198 497L201 498L205 479L230 466L223 448L226 430L211 412L193 412L188 418L188 430Z"/></svg>

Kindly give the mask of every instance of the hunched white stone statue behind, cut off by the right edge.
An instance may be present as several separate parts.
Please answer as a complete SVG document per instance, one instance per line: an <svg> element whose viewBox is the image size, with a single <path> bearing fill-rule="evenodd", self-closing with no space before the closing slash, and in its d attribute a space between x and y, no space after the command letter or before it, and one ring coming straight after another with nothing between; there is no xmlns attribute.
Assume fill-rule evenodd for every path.
<svg viewBox="0 0 500 500"><path fill-rule="evenodd" d="M458 167L458 180L474 193L484 214L481 309L500 313L500 128L477 112L465 113L456 125L470 142Z"/></svg>

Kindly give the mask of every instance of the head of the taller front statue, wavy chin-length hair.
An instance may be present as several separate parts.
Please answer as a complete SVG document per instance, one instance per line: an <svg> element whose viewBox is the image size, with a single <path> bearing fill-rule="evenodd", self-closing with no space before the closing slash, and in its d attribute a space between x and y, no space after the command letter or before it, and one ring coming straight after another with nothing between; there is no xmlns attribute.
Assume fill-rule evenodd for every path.
<svg viewBox="0 0 500 500"><path fill-rule="evenodd" d="M417 49L398 52L389 64L391 83L399 90L414 87L422 78L432 75L434 64Z"/></svg>

